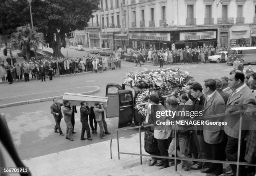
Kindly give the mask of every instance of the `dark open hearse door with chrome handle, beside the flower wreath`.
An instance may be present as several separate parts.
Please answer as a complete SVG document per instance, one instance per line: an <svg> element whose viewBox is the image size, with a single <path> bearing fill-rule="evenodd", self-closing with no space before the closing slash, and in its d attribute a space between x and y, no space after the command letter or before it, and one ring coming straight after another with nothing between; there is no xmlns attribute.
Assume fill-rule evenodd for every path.
<svg viewBox="0 0 256 176"><path fill-rule="evenodd" d="M119 90L119 120L118 128L131 126L133 121L133 93L129 90Z"/></svg>

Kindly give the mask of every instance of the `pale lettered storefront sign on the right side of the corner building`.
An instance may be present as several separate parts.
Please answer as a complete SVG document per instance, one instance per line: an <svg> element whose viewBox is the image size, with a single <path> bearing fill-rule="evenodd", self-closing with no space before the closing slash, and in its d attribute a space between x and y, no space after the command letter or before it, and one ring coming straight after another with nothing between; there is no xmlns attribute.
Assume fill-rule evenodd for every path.
<svg viewBox="0 0 256 176"><path fill-rule="evenodd" d="M216 31L179 33L179 40L203 40L216 37Z"/></svg>

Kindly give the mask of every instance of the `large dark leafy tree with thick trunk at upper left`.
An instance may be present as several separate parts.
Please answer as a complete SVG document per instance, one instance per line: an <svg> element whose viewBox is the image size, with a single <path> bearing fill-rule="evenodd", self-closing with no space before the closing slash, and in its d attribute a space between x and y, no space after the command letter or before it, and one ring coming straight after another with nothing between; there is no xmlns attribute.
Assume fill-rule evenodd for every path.
<svg viewBox="0 0 256 176"><path fill-rule="evenodd" d="M19 26L31 23L27 0L0 0L0 34L10 35ZM32 0L33 25L44 33L54 57L63 57L60 49L66 46L65 36L84 30L99 0Z"/></svg>

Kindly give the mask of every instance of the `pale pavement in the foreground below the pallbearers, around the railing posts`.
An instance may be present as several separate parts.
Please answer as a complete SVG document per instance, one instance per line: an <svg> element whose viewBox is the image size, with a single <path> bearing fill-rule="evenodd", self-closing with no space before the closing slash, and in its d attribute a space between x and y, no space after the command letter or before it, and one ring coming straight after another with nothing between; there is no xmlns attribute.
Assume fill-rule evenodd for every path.
<svg viewBox="0 0 256 176"><path fill-rule="evenodd" d="M141 134L141 138L144 138L144 133ZM143 144L142 140L142 154L147 154ZM139 153L138 133L119 138L119 146L120 152ZM174 171L174 166L162 170L157 166L149 167L148 157L143 157L143 165L140 165L138 156L120 154L118 160L117 151L117 139L113 139L113 159L110 159L109 140L30 158L23 162L33 176L206 176L200 170L183 171L180 164L177 172Z"/></svg>

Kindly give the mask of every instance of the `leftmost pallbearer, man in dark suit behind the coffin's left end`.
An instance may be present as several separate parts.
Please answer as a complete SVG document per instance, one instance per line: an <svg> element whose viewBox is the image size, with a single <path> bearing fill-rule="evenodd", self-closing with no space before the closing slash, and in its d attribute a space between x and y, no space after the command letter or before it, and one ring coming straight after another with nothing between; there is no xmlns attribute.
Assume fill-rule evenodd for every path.
<svg viewBox="0 0 256 176"><path fill-rule="evenodd" d="M63 106L63 104L59 103L56 98L54 98L52 101L53 101L53 104L51 105L51 114L54 116L54 120L56 123L54 127L54 131L55 133L59 133L61 136L64 136L60 127L61 118L63 117L61 113L61 106Z"/></svg>

